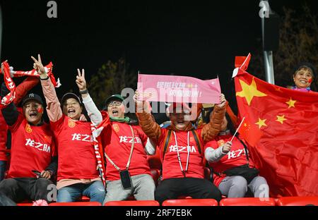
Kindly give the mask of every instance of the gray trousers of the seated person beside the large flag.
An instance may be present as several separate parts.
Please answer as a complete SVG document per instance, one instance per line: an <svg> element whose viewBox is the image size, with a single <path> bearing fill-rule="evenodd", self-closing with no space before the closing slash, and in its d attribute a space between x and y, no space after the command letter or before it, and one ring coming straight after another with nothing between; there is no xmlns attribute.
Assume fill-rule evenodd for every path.
<svg viewBox="0 0 318 220"><path fill-rule="evenodd" d="M254 197L269 197L269 185L262 176L255 177L249 184L242 176L227 176L218 185L222 195L229 198L245 197L247 188L252 191Z"/></svg>

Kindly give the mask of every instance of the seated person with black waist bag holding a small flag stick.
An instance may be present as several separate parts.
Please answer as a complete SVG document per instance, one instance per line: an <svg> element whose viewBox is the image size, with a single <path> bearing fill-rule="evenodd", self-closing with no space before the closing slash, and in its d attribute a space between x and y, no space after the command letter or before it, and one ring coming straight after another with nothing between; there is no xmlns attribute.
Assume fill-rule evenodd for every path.
<svg viewBox="0 0 318 220"><path fill-rule="evenodd" d="M266 179L254 168L245 142L233 133L235 128L226 114L218 137L206 143L205 157L213 168L213 183L227 197L245 197L248 189L254 197L269 197Z"/></svg>

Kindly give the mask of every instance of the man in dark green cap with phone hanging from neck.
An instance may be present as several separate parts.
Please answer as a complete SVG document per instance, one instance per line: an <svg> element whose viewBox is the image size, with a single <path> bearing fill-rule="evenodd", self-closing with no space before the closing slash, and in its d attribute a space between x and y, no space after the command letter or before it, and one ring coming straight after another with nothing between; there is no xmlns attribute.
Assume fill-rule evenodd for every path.
<svg viewBox="0 0 318 220"><path fill-rule="evenodd" d="M154 200L155 183L151 177L145 149L148 137L140 126L131 126L125 117L124 98L114 94L105 102L110 125L102 132L105 149L107 194L104 202Z"/></svg>

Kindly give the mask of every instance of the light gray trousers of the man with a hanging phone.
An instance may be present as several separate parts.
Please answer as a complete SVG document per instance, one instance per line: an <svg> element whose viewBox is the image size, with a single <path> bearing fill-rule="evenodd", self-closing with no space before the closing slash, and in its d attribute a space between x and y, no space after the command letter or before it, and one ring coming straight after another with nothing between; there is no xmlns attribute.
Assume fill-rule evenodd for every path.
<svg viewBox="0 0 318 220"><path fill-rule="evenodd" d="M125 190L122 181L106 181L105 202L126 200L130 195L134 195L136 200L155 200L155 182L148 174L131 176L132 187Z"/></svg>

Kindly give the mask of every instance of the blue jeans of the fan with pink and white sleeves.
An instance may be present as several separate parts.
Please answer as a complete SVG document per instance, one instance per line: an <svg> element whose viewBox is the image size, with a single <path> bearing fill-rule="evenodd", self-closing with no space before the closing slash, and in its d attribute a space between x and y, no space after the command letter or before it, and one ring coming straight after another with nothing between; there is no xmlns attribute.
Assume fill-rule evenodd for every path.
<svg viewBox="0 0 318 220"><path fill-rule="evenodd" d="M90 197L90 202L102 202L105 198L105 187L102 181L90 184L76 183L60 188L57 192L57 202L76 202L82 195Z"/></svg>

